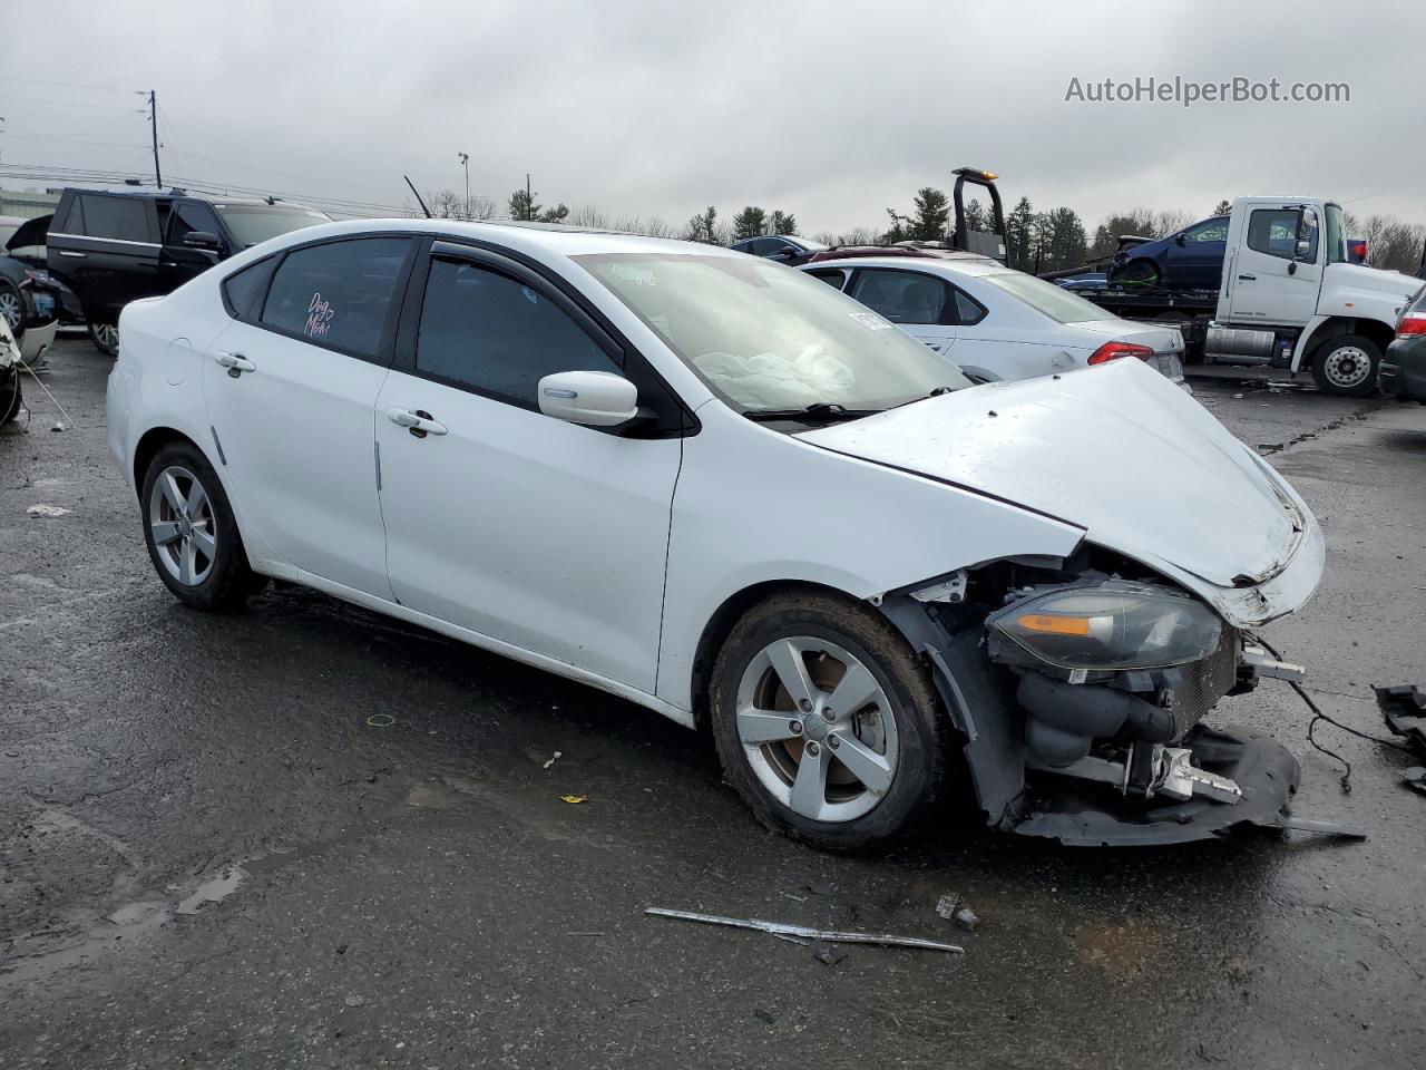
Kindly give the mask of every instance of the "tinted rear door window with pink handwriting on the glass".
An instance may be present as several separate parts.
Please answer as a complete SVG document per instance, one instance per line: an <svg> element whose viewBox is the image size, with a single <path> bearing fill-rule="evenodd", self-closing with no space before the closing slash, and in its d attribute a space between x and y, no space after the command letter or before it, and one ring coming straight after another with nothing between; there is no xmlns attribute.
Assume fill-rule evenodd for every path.
<svg viewBox="0 0 1426 1070"><path fill-rule="evenodd" d="M288 253L272 277L262 324L355 357L375 357L411 245L355 238Z"/></svg>

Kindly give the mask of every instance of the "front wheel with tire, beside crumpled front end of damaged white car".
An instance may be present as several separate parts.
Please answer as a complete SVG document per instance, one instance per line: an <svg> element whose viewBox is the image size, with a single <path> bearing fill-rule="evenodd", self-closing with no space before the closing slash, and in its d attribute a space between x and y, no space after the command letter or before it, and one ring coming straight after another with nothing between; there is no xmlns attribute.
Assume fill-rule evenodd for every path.
<svg viewBox="0 0 1426 1070"><path fill-rule="evenodd" d="M754 606L719 653L709 706L727 780L774 832L858 850L908 832L940 798L945 720L927 671L856 602Z"/></svg>

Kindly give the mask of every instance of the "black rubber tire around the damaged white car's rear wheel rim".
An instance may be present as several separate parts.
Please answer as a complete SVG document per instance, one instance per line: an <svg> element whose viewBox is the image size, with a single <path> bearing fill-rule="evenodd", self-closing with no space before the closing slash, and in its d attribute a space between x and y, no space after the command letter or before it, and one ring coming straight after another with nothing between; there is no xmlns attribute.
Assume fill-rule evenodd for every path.
<svg viewBox="0 0 1426 1070"><path fill-rule="evenodd" d="M208 519L201 519L202 509L200 509L198 522L190 522L190 528L200 528L202 524L208 524L205 531L211 534L212 545L211 556L198 551L197 569L193 572L193 578L197 582L183 582L180 575L175 575L175 566L183 571L175 564L183 556L183 549L174 551L173 544L160 546L155 539L154 521L157 518L154 509L163 506L155 502L154 495L155 492L163 494L157 486L160 477L175 469L190 474L201 485L208 502ZM188 486L183 484L184 481L180 477L178 486L183 491L183 496L191 501L191 484ZM170 442L148 462L148 469L144 472L140 508L144 522L144 544L148 546L148 558L153 561L154 571L184 605L190 605L194 609L232 608L242 605L247 596L258 586L252 569L248 568L248 555L242 548L242 536L238 534L238 524L232 516L228 495L224 494L222 484L212 471L212 465L208 464L208 459L191 442ZM204 561L207 561L207 569L202 569Z"/></svg>

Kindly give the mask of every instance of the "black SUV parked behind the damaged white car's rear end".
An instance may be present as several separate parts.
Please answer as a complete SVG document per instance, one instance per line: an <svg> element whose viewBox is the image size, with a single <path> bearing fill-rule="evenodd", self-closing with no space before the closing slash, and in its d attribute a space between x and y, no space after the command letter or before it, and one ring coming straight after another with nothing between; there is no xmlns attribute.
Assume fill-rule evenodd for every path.
<svg viewBox="0 0 1426 1070"><path fill-rule="evenodd" d="M130 301L177 290L248 245L329 221L274 198L66 190L50 223L47 263L84 305L94 345L113 357L118 312Z"/></svg>

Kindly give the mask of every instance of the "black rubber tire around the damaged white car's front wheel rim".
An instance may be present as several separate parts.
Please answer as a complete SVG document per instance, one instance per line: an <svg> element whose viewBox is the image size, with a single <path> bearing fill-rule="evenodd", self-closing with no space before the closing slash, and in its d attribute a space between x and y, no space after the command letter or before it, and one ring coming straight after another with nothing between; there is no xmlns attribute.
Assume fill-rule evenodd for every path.
<svg viewBox="0 0 1426 1070"><path fill-rule="evenodd" d="M851 820L813 820L776 798L753 769L739 735L737 700L744 672L770 643L791 636L823 639L856 656L891 706L897 760L890 788L868 812ZM848 599L786 593L750 609L719 652L709 708L713 739L729 783L763 825L814 847L854 852L896 840L923 822L944 790L950 728L928 671L886 618ZM800 746L810 749L811 742ZM836 750L827 753L836 762Z"/></svg>

